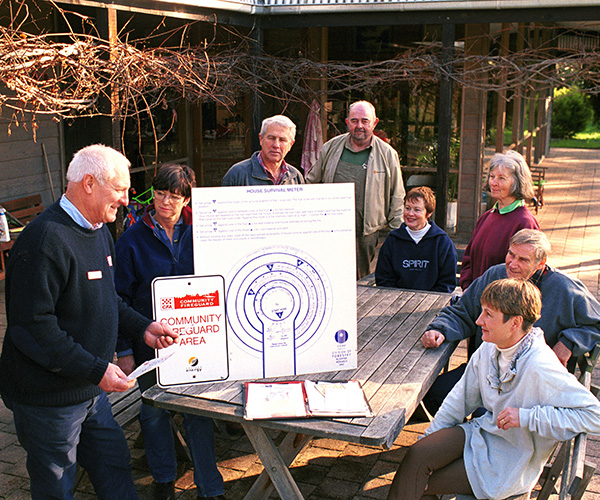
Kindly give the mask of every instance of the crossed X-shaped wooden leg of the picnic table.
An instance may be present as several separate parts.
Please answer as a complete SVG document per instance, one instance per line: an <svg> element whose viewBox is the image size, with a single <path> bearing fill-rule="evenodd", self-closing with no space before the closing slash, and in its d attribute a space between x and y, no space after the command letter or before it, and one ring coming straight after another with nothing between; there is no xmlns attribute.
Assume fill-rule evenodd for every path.
<svg viewBox="0 0 600 500"><path fill-rule="evenodd" d="M292 478L288 466L312 437L289 433L277 448L265 429L259 425L243 422L242 427L265 468L244 500L266 500L273 487L285 500L303 500L304 497Z"/></svg>

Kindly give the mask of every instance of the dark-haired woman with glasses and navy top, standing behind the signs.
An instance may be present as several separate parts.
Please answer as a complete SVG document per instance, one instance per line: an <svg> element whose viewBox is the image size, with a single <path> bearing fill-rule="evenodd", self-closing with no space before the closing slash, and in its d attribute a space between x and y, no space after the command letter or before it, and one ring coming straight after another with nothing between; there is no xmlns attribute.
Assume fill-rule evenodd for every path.
<svg viewBox="0 0 600 500"><path fill-rule="evenodd" d="M192 210L189 202L195 186L194 171L185 165L163 165L152 180L154 204L144 217L117 241L115 283L123 300L152 318L152 280L158 276L194 273ZM126 373L154 358L144 344L117 345L117 364ZM156 383L154 371L138 379L143 392ZM140 425L144 434L146 459L155 481L156 499L175 498L177 457L171 414L168 410L142 404ZM194 462L198 498L222 499L223 478L215 463L214 430L211 419L183 415L186 440Z"/></svg>

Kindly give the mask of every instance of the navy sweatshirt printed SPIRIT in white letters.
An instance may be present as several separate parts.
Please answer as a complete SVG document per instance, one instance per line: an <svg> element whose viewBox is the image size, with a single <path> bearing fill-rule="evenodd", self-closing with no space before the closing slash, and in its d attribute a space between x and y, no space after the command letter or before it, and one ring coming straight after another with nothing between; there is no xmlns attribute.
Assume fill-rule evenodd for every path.
<svg viewBox="0 0 600 500"><path fill-rule="evenodd" d="M384 241L375 269L377 286L452 292L456 288L456 248L435 223L419 243L406 224L394 229Z"/></svg>

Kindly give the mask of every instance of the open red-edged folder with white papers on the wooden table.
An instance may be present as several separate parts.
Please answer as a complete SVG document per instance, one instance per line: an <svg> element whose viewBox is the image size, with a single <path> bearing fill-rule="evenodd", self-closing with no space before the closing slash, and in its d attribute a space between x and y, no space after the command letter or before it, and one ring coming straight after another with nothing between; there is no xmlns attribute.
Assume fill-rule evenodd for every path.
<svg viewBox="0 0 600 500"><path fill-rule="evenodd" d="M246 382L245 396L246 420L372 416L356 380Z"/></svg>

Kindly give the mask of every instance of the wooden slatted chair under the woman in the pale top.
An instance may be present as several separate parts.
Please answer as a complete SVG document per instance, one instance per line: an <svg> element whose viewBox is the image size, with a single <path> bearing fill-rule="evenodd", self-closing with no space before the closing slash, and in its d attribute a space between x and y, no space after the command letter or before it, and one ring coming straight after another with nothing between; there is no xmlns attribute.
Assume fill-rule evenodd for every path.
<svg viewBox="0 0 600 500"><path fill-rule="evenodd" d="M580 356L577 360L579 367L579 381L594 394L597 389L592 387L592 372L600 356L600 344L596 344L589 353ZM585 493L597 465L586 458L587 434L578 434L569 441L560 443L551 460L544 467L539 483L542 489L537 500L548 500L558 478L562 474L559 491L559 500L580 500Z"/></svg>

